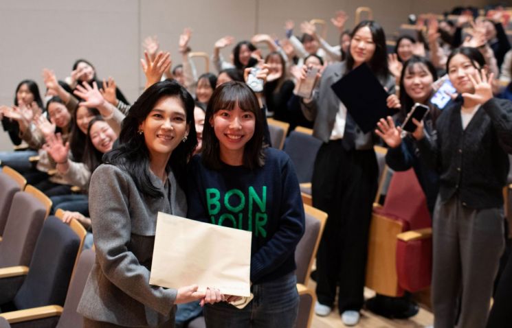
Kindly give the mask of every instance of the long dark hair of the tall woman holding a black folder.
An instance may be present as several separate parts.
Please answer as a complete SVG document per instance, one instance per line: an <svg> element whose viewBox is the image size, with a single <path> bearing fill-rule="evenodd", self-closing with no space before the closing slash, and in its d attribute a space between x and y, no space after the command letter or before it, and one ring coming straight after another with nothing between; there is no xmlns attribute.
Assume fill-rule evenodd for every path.
<svg viewBox="0 0 512 328"><path fill-rule="evenodd" d="M354 27L352 34L350 34L350 45L353 43L353 38L356 32L365 26L370 29L373 43L375 43L375 52L367 64L379 80L384 80L389 75L389 69L388 54L386 50L386 35L384 34L384 30L381 25L375 21L361 21L361 23ZM352 71L354 64L354 58L352 54L350 54L349 48L346 56L346 73Z"/></svg>

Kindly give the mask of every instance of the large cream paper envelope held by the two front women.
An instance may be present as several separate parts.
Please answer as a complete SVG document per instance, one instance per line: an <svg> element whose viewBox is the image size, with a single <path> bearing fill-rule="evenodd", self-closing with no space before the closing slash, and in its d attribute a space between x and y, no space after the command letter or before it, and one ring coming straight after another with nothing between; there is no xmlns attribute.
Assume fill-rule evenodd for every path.
<svg viewBox="0 0 512 328"><path fill-rule="evenodd" d="M251 234L159 212L149 283L249 296Z"/></svg>

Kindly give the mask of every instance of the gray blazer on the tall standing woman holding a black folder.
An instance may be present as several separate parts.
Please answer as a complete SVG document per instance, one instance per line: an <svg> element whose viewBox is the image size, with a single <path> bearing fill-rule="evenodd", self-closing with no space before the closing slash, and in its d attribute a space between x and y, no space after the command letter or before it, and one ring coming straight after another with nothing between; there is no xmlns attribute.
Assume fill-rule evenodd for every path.
<svg viewBox="0 0 512 328"><path fill-rule="evenodd" d="M313 93L313 101L309 104L301 103L302 113L309 121L315 121L313 136L329 142L336 119L336 113L340 109L340 98L331 89L331 85L339 81L346 71L345 62L335 62L324 70L318 89ZM380 81L388 89L388 93L394 93L394 78L389 75L386 81ZM372 148L371 132L363 133L359 129L355 135L356 149Z"/></svg>

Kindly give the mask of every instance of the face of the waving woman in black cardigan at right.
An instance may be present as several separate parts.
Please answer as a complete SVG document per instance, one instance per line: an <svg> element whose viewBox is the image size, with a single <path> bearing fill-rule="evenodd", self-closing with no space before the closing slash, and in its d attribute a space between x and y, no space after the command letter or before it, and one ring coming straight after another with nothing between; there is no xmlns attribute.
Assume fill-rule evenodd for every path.
<svg viewBox="0 0 512 328"><path fill-rule="evenodd" d="M448 63L448 77L458 93L474 93L475 87L468 75L476 76L478 69L467 56L456 54Z"/></svg>

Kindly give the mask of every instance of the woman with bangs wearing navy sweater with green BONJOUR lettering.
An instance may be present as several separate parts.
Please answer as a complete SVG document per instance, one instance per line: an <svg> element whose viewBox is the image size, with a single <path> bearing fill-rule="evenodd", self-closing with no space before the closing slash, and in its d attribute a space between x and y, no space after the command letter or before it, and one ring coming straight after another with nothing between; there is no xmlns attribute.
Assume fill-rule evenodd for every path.
<svg viewBox="0 0 512 328"><path fill-rule="evenodd" d="M241 309L227 302L207 305L207 327L286 328L296 320L294 253L304 209L289 157L263 148L264 120L247 85L222 84L206 110L202 154L192 158L188 218L252 231L254 298Z"/></svg>

